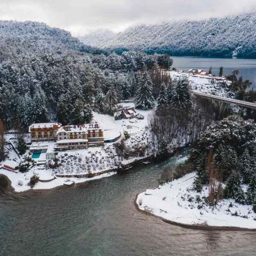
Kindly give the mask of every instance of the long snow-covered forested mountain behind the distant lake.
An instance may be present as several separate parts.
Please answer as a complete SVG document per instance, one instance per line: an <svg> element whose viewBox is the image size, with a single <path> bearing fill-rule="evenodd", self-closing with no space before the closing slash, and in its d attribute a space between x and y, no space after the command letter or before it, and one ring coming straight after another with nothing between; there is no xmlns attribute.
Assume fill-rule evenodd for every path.
<svg viewBox="0 0 256 256"><path fill-rule="evenodd" d="M171 55L256 56L255 10L223 18L138 25L102 39L104 33L87 35L81 40L116 51L139 49Z"/></svg>

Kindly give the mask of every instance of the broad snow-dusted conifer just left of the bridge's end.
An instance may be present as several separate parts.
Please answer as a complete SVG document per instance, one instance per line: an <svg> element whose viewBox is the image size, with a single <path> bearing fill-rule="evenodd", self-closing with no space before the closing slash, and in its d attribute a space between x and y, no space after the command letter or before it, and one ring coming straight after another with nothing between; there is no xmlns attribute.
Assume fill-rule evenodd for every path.
<svg viewBox="0 0 256 256"><path fill-rule="evenodd" d="M189 82L187 79L180 78L177 80L173 90L175 90L175 93L172 92L169 96L169 100L172 105L184 108L191 104Z"/></svg>

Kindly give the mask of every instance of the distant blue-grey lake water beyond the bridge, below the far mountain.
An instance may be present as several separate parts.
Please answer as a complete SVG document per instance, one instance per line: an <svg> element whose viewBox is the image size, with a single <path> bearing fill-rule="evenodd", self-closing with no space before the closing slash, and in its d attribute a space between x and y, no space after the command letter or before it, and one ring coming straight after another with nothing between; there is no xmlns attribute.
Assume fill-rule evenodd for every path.
<svg viewBox="0 0 256 256"><path fill-rule="evenodd" d="M256 89L256 59L242 58L206 58L206 57L172 57L172 67L184 70L186 73L190 68L203 69L208 72L212 66L212 74L218 76L220 66L224 68L224 75L233 70L239 70L239 76L252 82L250 89Z"/></svg>

